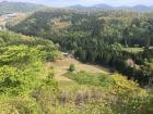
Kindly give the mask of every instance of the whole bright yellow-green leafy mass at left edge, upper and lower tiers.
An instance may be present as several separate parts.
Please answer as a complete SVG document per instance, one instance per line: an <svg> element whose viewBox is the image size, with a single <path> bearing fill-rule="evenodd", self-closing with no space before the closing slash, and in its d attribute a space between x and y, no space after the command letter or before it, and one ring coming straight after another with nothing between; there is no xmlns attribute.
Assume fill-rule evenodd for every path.
<svg viewBox="0 0 153 114"><path fill-rule="evenodd" d="M0 55L1 93L20 94L39 85L43 69L40 51L26 46L9 46Z"/></svg>

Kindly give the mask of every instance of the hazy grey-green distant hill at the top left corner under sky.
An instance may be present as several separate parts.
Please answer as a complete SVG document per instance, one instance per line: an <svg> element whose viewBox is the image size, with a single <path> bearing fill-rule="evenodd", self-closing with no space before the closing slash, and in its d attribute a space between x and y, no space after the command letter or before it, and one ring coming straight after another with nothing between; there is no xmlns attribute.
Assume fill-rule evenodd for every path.
<svg viewBox="0 0 153 114"><path fill-rule="evenodd" d="M11 2L2 1L0 2L0 13L16 13L16 12L33 12L39 9L44 9L45 5L34 4L27 2Z"/></svg>

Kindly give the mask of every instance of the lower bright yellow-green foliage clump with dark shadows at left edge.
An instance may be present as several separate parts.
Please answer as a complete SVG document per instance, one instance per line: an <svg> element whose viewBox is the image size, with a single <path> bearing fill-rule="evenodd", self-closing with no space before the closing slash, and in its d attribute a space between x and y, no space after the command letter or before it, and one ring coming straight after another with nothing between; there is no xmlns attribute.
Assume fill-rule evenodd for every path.
<svg viewBox="0 0 153 114"><path fill-rule="evenodd" d="M16 67L0 67L0 93L19 94L22 89L20 76Z"/></svg>

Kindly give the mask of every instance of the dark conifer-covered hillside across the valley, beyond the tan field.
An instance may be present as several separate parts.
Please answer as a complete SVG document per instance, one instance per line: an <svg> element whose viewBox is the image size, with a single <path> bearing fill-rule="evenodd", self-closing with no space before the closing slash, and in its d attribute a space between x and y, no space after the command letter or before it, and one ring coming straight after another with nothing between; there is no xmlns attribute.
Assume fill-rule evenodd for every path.
<svg viewBox="0 0 153 114"><path fill-rule="evenodd" d="M151 84L152 13L44 10L8 28L51 39L82 62L107 65L141 86Z"/></svg>

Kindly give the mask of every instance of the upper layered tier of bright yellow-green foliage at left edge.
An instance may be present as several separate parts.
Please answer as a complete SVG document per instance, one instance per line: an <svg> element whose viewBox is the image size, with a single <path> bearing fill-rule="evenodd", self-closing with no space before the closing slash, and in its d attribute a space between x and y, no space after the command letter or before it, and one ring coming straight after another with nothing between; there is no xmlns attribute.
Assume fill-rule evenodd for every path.
<svg viewBox="0 0 153 114"><path fill-rule="evenodd" d="M1 65L28 65L40 60L40 51L27 46L10 46L0 49Z"/></svg>

